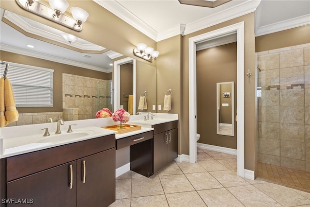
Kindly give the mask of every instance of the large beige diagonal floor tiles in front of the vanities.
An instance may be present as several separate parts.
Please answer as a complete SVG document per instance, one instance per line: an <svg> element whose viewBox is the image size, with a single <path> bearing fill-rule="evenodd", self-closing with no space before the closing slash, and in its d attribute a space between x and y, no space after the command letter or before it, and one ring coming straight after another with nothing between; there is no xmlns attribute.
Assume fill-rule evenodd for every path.
<svg viewBox="0 0 310 207"><path fill-rule="evenodd" d="M310 193L237 176L236 156L197 150L197 163L172 162L149 178L116 180L110 207L310 207Z"/></svg>

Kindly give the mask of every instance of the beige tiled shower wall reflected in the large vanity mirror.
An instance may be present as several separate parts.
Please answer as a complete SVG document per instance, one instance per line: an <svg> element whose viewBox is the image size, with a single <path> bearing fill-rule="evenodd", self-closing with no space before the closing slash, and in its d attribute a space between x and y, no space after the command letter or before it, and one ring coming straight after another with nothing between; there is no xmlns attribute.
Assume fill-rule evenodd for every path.
<svg viewBox="0 0 310 207"><path fill-rule="evenodd" d="M66 111L63 119L93 119L102 108L112 111L111 81L63 73L62 107Z"/></svg>

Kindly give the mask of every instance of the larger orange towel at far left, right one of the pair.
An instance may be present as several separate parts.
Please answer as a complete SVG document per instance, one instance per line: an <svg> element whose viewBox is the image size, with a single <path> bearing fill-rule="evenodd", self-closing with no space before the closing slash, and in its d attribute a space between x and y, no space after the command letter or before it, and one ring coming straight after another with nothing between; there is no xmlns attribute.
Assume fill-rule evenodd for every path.
<svg viewBox="0 0 310 207"><path fill-rule="evenodd" d="M4 79L4 105L5 105L5 125L18 120L15 98L11 82L8 78Z"/></svg>

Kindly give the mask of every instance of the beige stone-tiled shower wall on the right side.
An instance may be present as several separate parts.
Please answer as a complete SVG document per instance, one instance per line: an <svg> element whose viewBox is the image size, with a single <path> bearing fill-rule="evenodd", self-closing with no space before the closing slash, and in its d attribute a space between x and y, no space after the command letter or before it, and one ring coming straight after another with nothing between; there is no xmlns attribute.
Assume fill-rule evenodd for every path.
<svg viewBox="0 0 310 207"><path fill-rule="evenodd" d="M258 52L257 66L257 160L310 172L310 44Z"/></svg>

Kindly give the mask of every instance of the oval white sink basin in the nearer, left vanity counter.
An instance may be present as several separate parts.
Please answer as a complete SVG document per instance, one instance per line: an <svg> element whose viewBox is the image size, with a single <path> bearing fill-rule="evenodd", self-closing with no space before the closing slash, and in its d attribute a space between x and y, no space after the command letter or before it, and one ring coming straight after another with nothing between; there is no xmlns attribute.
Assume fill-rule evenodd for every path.
<svg viewBox="0 0 310 207"><path fill-rule="evenodd" d="M58 142L63 142L63 141L75 140L78 138L86 137L88 135L89 133L85 133L85 132L72 132L72 133L59 134L59 135L53 135L53 136L40 138L36 142L37 143L46 143L46 142L58 143Z"/></svg>

